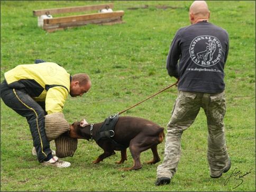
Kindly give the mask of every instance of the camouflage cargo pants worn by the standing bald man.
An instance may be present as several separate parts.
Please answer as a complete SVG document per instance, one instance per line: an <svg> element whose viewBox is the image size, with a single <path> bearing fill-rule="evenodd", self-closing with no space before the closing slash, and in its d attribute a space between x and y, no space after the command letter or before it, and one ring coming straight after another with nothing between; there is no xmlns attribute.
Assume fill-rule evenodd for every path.
<svg viewBox="0 0 256 192"><path fill-rule="evenodd" d="M157 168L157 178L172 178L181 156L181 135L195 121L200 108L204 109L208 126L207 159L211 176L218 176L228 161L223 118L226 113L225 93L208 94L182 92L175 100L167 125L164 159Z"/></svg>

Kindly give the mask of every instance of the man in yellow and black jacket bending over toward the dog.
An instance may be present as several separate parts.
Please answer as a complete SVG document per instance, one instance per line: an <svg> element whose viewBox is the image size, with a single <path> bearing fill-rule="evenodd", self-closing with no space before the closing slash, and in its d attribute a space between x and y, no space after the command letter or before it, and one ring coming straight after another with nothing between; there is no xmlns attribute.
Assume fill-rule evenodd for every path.
<svg viewBox="0 0 256 192"><path fill-rule="evenodd" d="M29 123L38 161L43 166L69 167L70 163L53 157L44 129L44 116L62 113L68 94L83 96L91 87L90 78L81 73L71 76L57 63L35 60L5 72L1 84L4 103Z"/></svg>

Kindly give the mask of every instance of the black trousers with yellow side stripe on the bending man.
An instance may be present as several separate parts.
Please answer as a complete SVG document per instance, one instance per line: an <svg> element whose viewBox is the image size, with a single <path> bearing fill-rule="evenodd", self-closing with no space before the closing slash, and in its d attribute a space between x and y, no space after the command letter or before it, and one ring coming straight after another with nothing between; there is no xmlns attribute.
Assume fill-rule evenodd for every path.
<svg viewBox="0 0 256 192"><path fill-rule="evenodd" d="M36 149L38 161L42 162L51 153L50 142L44 129L45 103L35 102L24 89L14 89L7 86L4 80L0 88L1 98L8 107L17 114L26 117Z"/></svg>

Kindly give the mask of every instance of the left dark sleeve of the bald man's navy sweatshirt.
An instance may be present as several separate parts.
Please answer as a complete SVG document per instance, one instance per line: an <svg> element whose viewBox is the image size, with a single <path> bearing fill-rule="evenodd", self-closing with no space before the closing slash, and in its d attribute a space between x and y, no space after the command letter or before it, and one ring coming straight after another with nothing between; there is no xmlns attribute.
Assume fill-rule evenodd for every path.
<svg viewBox="0 0 256 192"><path fill-rule="evenodd" d="M178 60L180 58L181 50L179 46L179 35L176 33L175 37L173 38L169 53L166 59L166 69L168 75L171 77L179 78L178 75Z"/></svg>

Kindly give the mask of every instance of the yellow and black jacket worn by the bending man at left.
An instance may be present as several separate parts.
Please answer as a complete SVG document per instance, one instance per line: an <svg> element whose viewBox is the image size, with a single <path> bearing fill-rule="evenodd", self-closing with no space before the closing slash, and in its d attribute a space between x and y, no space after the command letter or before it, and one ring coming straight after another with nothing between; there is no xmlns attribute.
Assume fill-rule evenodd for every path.
<svg viewBox="0 0 256 192"><path fill-rule="evenodd" d="M8 87L25 90L36 102L45 101L47 114L62 112L71 76L57 63L19 65L5 72L4 77Z"/></svg>

